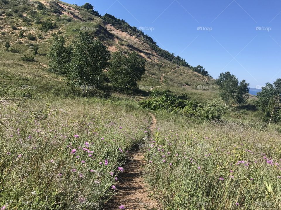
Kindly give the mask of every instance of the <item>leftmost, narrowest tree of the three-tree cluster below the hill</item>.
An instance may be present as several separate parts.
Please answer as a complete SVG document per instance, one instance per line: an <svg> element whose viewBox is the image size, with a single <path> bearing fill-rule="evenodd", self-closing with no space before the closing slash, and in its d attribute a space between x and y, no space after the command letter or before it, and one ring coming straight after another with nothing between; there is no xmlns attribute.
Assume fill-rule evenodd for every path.
<svg viewBox="0 0 281 210"><path fill-rule="evenodd" d="M49 71L56 74L66 74L67 65L70 63L72 49L71 46L65 46L65 39L63 36L53 34L53 44L47 54L49 61Z"/></svg>

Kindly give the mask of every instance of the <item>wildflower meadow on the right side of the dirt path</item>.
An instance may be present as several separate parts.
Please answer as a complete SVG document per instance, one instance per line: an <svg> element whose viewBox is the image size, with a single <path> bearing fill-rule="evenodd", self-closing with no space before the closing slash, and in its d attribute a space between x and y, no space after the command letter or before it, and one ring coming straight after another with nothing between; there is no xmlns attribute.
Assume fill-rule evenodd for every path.
<svg viewBox="0 0 281 210"><path fill-rule="evenodd" d="M145 178L163 209L281 209L281 136L158 113Z"/></svg>

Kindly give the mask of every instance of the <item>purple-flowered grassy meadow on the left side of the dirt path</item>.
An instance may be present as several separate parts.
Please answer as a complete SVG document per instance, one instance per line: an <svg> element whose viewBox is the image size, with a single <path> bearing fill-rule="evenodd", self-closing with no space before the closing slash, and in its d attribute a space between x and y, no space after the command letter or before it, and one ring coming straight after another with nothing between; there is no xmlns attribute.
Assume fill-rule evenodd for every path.
<svg viewBox="0 0 281 210"><path fill-rule="evenodd" d="M1 209L100 209L150 124L126 100L0 103Z"/></svg>

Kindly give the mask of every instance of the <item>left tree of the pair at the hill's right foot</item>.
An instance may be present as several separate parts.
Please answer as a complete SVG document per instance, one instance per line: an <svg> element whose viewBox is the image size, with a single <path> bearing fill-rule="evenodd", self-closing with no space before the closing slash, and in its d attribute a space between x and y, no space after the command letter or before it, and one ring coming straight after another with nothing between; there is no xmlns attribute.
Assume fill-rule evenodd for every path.
<svg viewBox="0 0 281 210"><path fill-rule="evenodd" d="M217 78L216 84L221 87L220 97L225 101L225 106L230 102L230 99L235 98L235 93L238 88L238 79L230 74L229 71L221 73Z"/></svg>

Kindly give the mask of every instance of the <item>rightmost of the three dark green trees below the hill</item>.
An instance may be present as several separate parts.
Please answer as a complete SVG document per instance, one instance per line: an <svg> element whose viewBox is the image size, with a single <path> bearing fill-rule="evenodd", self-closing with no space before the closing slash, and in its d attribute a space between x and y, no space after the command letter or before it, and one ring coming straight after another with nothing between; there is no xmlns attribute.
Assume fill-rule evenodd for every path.
<svg viewBox="0 0 281 210"><path fill-rule="evenodd" d="M128 90L137 87L137 81L145 72L145 59L136 52L128 53L128 57L122 52L113 53L107 73L114 88Z"/></svg>

